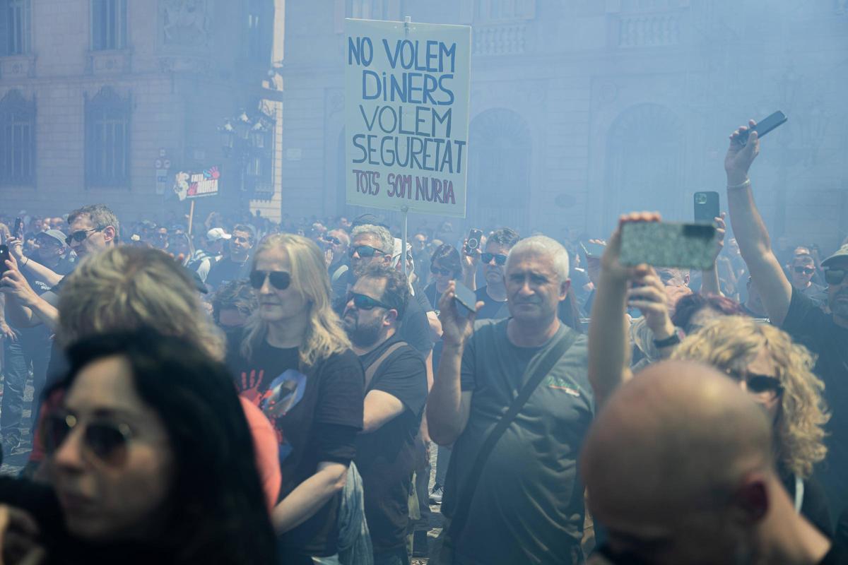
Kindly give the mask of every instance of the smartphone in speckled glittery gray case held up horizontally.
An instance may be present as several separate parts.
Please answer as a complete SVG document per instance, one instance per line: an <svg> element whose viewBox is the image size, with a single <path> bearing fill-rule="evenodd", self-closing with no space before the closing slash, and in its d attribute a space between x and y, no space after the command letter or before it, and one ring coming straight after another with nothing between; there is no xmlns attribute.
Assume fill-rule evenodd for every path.
<svg viewBox="0 0 848 565"><path fill-rule="evenodd" d="M716 252L716 226L639 222L622 227L622 265L711 269Z"/></svg>

